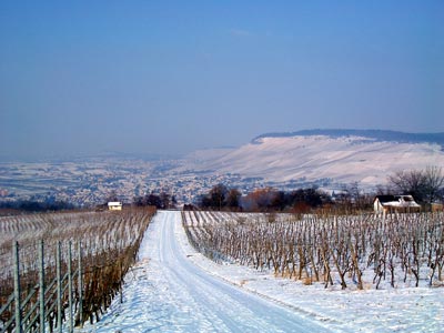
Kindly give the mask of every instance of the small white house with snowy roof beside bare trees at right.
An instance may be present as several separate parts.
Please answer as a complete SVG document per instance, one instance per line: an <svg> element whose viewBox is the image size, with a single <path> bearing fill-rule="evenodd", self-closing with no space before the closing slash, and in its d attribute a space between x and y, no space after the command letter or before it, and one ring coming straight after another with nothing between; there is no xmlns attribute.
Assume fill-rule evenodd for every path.
<svg viewBox="0 0 444 333"><path fill-rule="evenodd" d="M393 212L417 212L421 205L416 203L412 195L377 195L373 201L375 213Z"/></svg>

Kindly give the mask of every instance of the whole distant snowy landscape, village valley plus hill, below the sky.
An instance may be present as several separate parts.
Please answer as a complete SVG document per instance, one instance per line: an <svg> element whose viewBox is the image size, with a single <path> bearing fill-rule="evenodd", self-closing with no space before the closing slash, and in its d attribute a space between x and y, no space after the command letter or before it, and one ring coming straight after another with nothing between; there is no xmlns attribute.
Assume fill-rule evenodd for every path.
<svg viewBox="0 0 444 333"><path fill-rule="evenodd" d="M309 130L262 134L238 148L175 158L147 160L115 153L69 161L1 162L0 203L24 199L88 206L105 202L113 191L129 203L160 189L188 203L218 183L245 193L261 186L340 190L351 182L372 190L398 170L444 168L443 147L444 133Z"/></svg>

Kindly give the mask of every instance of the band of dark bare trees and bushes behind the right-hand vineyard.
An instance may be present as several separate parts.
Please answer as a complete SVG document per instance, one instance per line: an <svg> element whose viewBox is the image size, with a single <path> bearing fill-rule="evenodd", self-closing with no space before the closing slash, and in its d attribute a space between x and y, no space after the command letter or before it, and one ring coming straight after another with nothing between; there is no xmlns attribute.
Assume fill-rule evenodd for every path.
<svg viewBox="0 0 444 333"><path fill-rule="evenodd" d="M385 186L374 192L360 189L357 182L344 184L340 191L329 194L317 188L297 189L290 192L260 188L249 193L230 189L224 184L214 185L198 201L202 210L226 210L244 212L299 212L334 210L336 212L359 212L373 208L376 194L411 194L424 210L432 203L444 201L444 172L438 167L424 170L401 170L389 175Z"/></svg>

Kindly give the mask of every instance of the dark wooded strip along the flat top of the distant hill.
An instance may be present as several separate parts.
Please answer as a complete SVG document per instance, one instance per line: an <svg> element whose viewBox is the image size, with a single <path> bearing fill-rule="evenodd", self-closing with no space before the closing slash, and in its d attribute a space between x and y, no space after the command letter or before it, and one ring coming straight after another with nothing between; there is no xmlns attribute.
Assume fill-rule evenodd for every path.
<svg viewBox="0 0 444 333"><path fill-rule="evenodd" d="M325 135L329 138L341 137L361 137L373 139L376 141L398 142L398 143L437 143L444 148L444 132L441 133L405 133L397 131L384 130L335 130L335 129L316 129L316 130L302 130L296 132L286 133L265 133L252 140L253 143L263 138L290 138L290 137L312 137Z"/></svg>

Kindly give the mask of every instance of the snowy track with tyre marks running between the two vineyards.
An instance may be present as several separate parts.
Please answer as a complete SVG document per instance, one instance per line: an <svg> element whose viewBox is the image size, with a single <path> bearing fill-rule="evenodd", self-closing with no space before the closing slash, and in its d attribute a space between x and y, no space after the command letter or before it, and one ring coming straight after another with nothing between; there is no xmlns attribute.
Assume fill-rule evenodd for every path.
<svg viewBox="0 0 444 333"><path fill-rule="evenodd" d="M85 332L325 332L294 311L223 282L183 249L180 212L159 212L123 300ZM191 255L191 254L189 254Z"/></svg>

